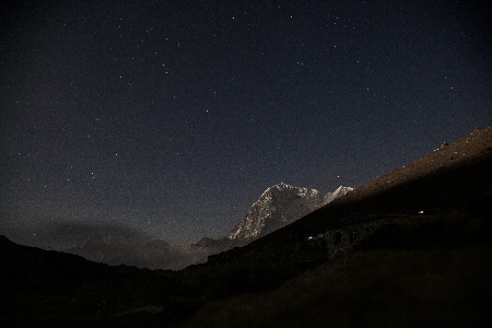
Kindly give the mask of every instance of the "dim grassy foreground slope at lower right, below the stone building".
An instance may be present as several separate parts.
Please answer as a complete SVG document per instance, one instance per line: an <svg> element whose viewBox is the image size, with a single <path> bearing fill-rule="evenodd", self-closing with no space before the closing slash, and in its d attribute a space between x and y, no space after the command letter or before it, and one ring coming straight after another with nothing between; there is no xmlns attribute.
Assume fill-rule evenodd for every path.
<svg viewBox="0 0 492 328"><path fill-rule="evenodd" d="M331 263L276 291L210 303L181 327L491 327L487 219L399 220Z"/></svg>

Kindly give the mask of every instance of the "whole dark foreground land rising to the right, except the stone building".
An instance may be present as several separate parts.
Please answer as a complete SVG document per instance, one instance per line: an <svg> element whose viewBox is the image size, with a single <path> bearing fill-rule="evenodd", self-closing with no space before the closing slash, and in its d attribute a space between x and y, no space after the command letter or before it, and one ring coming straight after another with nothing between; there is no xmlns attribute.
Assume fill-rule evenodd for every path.
<svg viewBox="0 0 492 328"><path fill-rule="evenodd" d="M331 258L298 242L361 211L394 220ZM109 267L2 237L0 268L1 327L492 327L492 128L204 265Z"/></svg>

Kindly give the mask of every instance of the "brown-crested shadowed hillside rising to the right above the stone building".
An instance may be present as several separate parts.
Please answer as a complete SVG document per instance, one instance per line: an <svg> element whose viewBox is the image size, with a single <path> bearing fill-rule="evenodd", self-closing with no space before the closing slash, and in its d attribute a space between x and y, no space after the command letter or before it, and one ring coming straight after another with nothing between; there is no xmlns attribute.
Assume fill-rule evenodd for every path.
<svg viewBox="0 0 492 328"><path fill-rule="evenodd" d="M475 198L492 194L491 167L492 127L488 127L361 186L254 244L288 242L352 212L417 213L466 207Z"/></svg>

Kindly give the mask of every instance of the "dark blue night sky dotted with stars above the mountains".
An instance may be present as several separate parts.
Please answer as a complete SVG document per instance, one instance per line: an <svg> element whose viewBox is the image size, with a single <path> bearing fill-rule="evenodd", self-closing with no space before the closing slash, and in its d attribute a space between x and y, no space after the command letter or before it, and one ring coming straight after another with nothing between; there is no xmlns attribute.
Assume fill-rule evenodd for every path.
<svg viewBox="0 0 492 328"><path fill-rule="evenodd" d="M225 235L280 181L358 187L492 124L487 1L16 1L0 234Z"/></svg>

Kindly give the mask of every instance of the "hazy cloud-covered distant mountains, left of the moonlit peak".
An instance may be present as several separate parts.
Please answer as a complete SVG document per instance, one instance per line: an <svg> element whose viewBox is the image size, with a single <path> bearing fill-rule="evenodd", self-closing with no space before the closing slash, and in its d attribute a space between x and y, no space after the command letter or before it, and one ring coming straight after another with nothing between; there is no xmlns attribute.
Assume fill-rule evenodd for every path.
<svg viewBox="0 0 492 328"><path fill-rule="evenodd" d="M169 244L122 224L52 222L43 231L52 249L110 266L120 263L149 269L183 269L203 262L203 249Z"/></svg>

